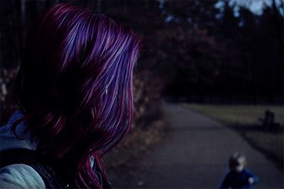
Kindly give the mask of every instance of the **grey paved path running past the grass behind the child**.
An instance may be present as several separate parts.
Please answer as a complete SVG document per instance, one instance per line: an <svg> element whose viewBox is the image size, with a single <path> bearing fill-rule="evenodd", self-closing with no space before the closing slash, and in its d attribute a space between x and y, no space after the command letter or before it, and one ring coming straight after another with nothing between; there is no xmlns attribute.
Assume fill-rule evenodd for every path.
<svg viewBox="0 0 284 189"><path fill-rule="evenodd" d="M233 130L177 104L165 103L163 110L168 137L144 154L140 167L131 170L135 177L121 178L116 187L218 188L229 156L239 151L260 178L254 188L283 188L283 173Z"/></svg>

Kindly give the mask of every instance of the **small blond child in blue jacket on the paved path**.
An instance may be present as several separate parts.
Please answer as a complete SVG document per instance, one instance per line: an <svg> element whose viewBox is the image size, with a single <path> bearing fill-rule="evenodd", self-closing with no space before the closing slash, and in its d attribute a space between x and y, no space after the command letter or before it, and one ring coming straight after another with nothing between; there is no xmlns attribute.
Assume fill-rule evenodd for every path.
<svg viewBox="0 0 284 189"><path fill-rule="evenodd" d="M246 157L242 154L236 153L230 157L229 168L219 188L252 188L258 182L258 177L246 168Z"/></svg>

